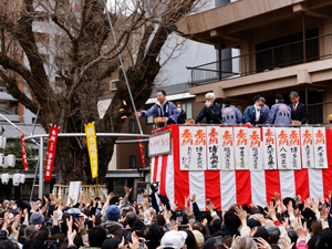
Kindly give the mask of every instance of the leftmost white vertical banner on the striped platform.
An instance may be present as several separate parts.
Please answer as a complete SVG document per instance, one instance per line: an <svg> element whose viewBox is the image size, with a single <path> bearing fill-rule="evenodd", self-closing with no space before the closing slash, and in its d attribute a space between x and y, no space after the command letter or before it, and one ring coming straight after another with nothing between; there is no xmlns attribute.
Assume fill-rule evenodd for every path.
<svg viewBox="0 0 332 249"><path fill-rule="evenodd" d="M179 126L179 164L180 170L194 169L194 135L193 127Z"/></svg>

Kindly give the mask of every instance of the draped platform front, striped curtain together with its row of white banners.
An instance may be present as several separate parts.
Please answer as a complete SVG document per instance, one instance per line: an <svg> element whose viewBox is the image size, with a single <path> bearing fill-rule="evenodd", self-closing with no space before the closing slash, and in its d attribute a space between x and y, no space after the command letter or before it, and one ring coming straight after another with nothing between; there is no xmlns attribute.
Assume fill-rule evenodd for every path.
<svg viewBox="0 0 332 249"><path fill-rule="evenodd" d="M167 129L172 131L173 153L152 157L151 181L159 181L160 194L169 199L170 205L177 203L179 208L184 207L185 197L193 194L197 196L196 201L200 210L206 210L206 199L210 199L220 210L229 208L232 204L266 206L274 193L280 193L283 197L301 195L302 199L326 198L328 190L332 189L331 129L309 128L308 133L303 128L283 128L284 133L279 138L277 134L280 135L282 129L276 131L276 128L247 128L246 132L246 129L232 127L196 126L194 128L193 126L170 125ZM310 133L312 133L311 136L308 135ZM288 145L283 145L280 142L286 136L283 134L293 141L288 139ZM238 160L240 170L237 170L235 151L237 146L246 146L245 141L238 143L245 137L247 137L248 146L248 166L246 166L245 157L243 160ZM301 166L301 156L307 157L307 152L303 155L303 148L311 145L310 139L304 142L308 137L311 137L313 145L312 148L309 147L311 149L308 154L309 166L318 163L322 164L319 165L321 168L317 166L308 168L308 162L307 166L303 164ZM197 166L194 165L194 160L197 162L195 157L199 156L196 147L204 146L204 141L206 141L206 169L197 170ZM317 146L314 146L314 141ZM214 148L214 146L218 147ZM267 146L270 148L263 149ZM300 156L297 149L291 152L291 148L299 148L298 146L302 151ZM295 169L284 169L282 164L278 164L278 148L281 147L290 151L287 158L291 162L287 167ZM222 154L224 148L227 151L229 148L232 156L229 156L231 153ZM314 159L315 156L318 156L317 159ZM294 158L300 162L300 167L298 162L293 162ZM245 167L248 167L247 169L241 168L242 163ZM281 166L280 169L279 166Z"/></svg>

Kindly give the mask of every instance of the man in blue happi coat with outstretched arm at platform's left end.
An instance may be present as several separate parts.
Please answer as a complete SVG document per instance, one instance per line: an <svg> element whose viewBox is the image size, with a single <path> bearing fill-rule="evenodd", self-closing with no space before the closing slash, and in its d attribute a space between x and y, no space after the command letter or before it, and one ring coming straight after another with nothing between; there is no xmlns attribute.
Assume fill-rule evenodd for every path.
<svg viewBox="0 0 332 249"><path fill-rule="evenodd" d="M166 92L164 90L158 90L157 92L157 103L154 104L147 111L139 111L135 113L136 116L156 116L156 117L166 117L166 123L177 124L177 118L179 111L176 105L166 98ZM159 127L165 126L164 123L158 124Z"/></svg>

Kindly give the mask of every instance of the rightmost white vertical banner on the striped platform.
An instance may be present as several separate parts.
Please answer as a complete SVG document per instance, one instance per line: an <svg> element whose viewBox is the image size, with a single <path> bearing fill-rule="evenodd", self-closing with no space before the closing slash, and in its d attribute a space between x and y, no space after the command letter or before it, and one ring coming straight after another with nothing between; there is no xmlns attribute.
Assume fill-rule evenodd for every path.
<svg viewBox="0 0 332 249"><path fill-rule="evenodd" d="M328 168L325 127L313 127L313 141L315 168Z"/></svg>

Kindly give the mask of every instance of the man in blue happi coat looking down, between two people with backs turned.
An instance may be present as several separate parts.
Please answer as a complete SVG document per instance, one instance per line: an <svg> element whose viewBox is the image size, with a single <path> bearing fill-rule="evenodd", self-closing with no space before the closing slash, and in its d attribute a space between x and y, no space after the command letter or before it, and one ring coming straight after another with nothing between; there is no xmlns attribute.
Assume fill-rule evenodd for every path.
<svg viewBox="0 0 332 249"><path fill-rule="evenodd" d="M264 105L266 98L259 97L253 105L248 106L243 113L245 124L251 124L253 126L257 124L263 124L264 116L261 110Z"/></svg>

